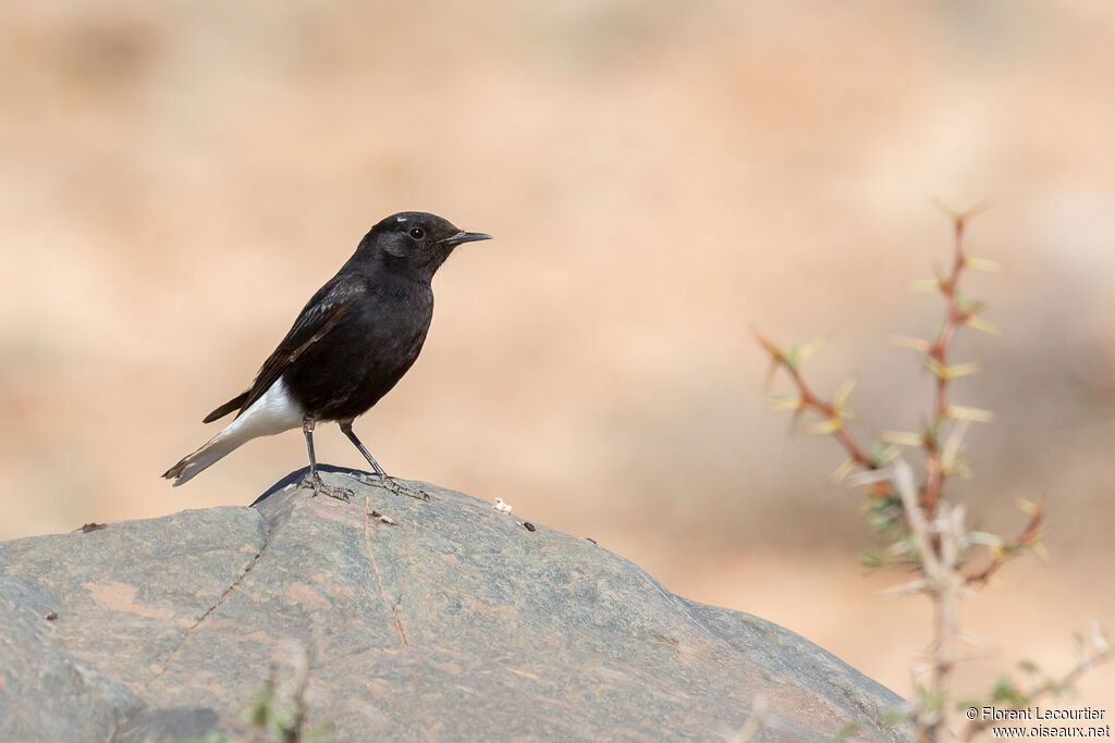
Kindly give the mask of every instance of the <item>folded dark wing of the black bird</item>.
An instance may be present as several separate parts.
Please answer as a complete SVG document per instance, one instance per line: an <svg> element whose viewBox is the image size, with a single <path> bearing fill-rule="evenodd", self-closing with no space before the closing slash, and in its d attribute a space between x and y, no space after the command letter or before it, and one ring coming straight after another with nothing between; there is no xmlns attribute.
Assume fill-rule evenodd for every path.
<svg viewBox="0 0 1115 743"><path fill-rule="evenodd" d="M221 414L230 413L236 408L240 413L252 407L252 403L263 397L283 372L302 355L307 349L324 338L337 326L348 312L349 301L365 291L365 284L355 276L334 276L329 283L318 290L294 321L287 338L279 343L252 381L252 387L243 394L230 400L209 414L206 420L216 420ZM237 416L240 414L237 413Z"/></svg>

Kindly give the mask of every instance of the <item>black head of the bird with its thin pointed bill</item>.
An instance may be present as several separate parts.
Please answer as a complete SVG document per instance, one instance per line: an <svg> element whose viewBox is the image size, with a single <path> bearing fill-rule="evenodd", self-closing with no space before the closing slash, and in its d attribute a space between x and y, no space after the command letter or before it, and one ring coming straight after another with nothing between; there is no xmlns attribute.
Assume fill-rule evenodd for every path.
<svg viewBox="0 0 1115 743"><path fill-rule="evenodd" d="M428 280L457 245L477 239L492 239L492 235L458 229L448 219L426 212L400 212L365 235L357 256L414 271Z"/></svg>

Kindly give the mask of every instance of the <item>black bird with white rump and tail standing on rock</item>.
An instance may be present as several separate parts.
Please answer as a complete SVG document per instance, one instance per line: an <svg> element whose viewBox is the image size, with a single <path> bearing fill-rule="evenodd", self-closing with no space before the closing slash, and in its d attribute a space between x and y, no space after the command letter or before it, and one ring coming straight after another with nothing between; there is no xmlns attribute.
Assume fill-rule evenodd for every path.
<svg viewBox="0 0 1115 743"><path fill-rule="evenodd" d="M310 453L310 476L303 485L347 499L349 491L321 481L313 457L314 424L337 421L381 485L425 498L387 476L356 438L352 421L387 394L418 358L434 316L434 273L457 245L491 238L425 212L403 212L377 224L302 309L251 387L202 422L233 411L236 418L163 477L180 486L245 441L301 426Z"/></svg>

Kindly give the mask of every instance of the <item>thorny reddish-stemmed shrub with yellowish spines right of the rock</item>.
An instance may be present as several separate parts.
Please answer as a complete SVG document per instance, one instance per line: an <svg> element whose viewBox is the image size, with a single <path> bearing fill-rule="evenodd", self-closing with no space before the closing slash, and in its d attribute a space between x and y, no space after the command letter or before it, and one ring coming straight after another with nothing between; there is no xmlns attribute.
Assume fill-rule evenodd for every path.
<svg viewBox="0 0 1115 743"><path fill-rule="evenodd" d="M831 400L822 398L809 388L802 373L802 365L817 351L817 344L784 349L755 332L770 359L768 384L782 370L794 388L792 394L776 395L773 408L792 411L795 423L806 412L820 417L820 422L809 426L807 432L833 437L847 454L832 479L836 482L847 480L863 490L867 521L880 538L879 545L864 551L863 564L872 568L913 568L918 577L889 593L923 594L930 598L933 638L925 655L913 664L910 706L893 711L886 721L912 724L919 741L970 740L990 723L971 721L963 714L966 711L980 710L985 705L1021 710L1043 695L1064 694L1080 675L1112 656L1106 637L1094 627L1087 638L1078 638L1079 657L1067 674L1050 677L1027 662L1021 666L1028 677L1024 686L1005 675L996 680L982 700L959 703L951 700L953 668L979 656L978 652L961 646L985 644L962 630L961 602L985 587L1008 560L1027 551L1043 559L1046 557L1041 545L1045 514L1039 502L1019 501L1026 516L1024 525L1015 537L1005 538L970 529L964 506L946 498L947 485L952 478L971 476L963 447L969 426L995 418L988 410L957 404L951 399L953 381L980 371L977 362L958 363L951 359L957 334L964 329L999 334L983 317L987 305L961 290L966 272L998 270L993 262L972 256L964 247L968 223L983 208L981 205L957 214L942 207L953 227L951 265L938 272L934 278L914 282L911 289L940 294L944 317L930 339L894 339L898 345L915 351L934 377L929 416L921 431L882 431L869 447L861 446L846 426L852 419L847 402L854 383L845 382ZM919 476L904 461L903 448L920 452Z"/></svg>

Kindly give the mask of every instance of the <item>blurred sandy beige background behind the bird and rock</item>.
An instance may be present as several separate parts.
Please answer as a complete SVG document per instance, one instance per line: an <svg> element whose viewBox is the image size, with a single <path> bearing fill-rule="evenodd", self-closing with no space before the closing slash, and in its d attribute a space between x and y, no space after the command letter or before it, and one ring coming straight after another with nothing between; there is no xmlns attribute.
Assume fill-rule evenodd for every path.
<svg viewBox="0 0 1115 743"><path fill-rule="evenodd" d="M1115 626L1113 39L1106 0L6 2L0 539L302 467L292 432L158 479L368 226L426 209L497 239L442 270L423 358L357 423L388 471L909 694L925 606L862 575L841 453L767 411L749 326L827 339L809 377L859 379L862 438L917 428L930 383L888 338L939 317L904 290L948 258L929 198L989 198L971 244L1007 271L968 286L1007 336L961 340L986 373L954 399L999 421L953 492L1002 534L1045 497L1054 559L968 607L1007 649L963 690L1067 667L1073 630ZM336 427L318 447L361 463ZM1115 674L1083 688L1113 703Z"/></svg>

